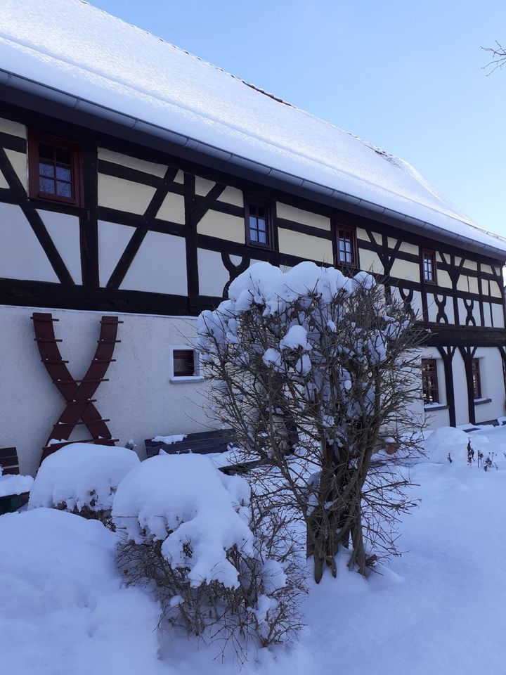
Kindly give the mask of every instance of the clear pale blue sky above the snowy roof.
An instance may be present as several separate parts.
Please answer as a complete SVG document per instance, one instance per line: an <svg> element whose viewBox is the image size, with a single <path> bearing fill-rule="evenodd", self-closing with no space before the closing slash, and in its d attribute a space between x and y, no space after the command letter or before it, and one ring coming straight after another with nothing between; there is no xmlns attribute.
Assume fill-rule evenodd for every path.
<svg viewBox="0 0 506 675"><path fill-rule="evenodd" d="M93 0L408 160L506 236L504 0Z"/></svg>

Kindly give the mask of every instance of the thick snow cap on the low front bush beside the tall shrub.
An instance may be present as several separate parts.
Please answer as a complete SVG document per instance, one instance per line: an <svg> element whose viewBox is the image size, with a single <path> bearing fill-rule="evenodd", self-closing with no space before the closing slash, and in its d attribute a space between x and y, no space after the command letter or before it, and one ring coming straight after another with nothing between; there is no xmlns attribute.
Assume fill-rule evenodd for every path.
<svg viewBox="0 0 506 675"><path fill-rule="evenodd" d="M119 485L112 518L136 544L162 542L167 562L188 568L191 586L221 581L237 588L238 570L226 553L234 546L252 552L252 533L238 513L247 503L247 482L205 456L155 456Z"/></svg>

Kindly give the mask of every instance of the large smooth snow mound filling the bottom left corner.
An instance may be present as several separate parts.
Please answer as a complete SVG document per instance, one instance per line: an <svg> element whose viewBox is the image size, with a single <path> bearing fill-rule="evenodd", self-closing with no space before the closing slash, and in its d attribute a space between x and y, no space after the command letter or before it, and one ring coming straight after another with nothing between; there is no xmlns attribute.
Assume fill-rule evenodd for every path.
<svg viewBox="0 0 506 675"><path fill-rule="evenodd" d="M55 509L0 516L2 674L175 672L157 658L160 607L115 571L116 539Z"/></svg>

